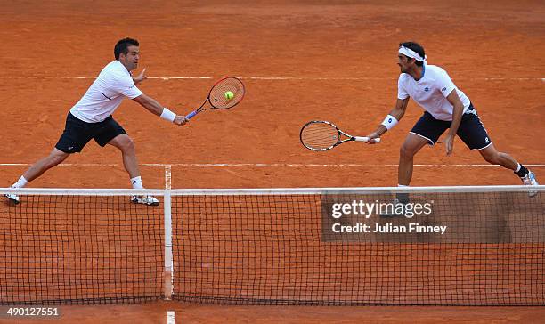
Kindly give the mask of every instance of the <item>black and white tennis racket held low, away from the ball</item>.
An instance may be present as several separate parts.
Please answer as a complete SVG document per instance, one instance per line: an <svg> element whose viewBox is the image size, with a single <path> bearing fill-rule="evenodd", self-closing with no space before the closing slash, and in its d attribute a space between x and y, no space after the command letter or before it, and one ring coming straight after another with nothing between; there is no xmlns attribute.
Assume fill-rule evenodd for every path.
<svg viewBox="0 0 545 324"><path fill-rule="evenodd" d="M313 120L301 128L301 143L308 150L331 150L344 142L369 142L369 137L352 136L327 121ZM379 138L375 139L380 142Z"/></svg>

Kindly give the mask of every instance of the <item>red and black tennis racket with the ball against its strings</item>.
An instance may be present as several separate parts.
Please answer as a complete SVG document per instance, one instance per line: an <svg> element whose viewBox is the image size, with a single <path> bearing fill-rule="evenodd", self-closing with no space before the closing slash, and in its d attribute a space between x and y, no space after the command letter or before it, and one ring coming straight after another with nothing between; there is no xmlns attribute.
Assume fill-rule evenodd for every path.
<svg viewBox="0 0 545 324"><path fill-rule="evenodd" d="M208 109L230 109L238 105L244 98L244 84L237 77L224 77L212 86L207 99L200 105L199 109L192 111L186 116L187 119L195 117L199 112Z"/></svg>

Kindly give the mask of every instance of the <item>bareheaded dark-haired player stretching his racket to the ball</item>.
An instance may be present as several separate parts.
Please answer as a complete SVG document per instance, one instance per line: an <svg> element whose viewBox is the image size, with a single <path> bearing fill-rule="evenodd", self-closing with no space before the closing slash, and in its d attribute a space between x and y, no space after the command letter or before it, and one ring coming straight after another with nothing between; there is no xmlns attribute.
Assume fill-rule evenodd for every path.
<svg viewBox="0 0 545 324"><path fill-rule="evenodd" d="M85 144L94 139L100 146L115 146L121 151L123 165L129 174L134 189L142 189L142 177L138 168L133 140L125 129L111 115L125 97L130 98L148 109L152 114L166 119L177 126L183 126L188 120L164 108L158 101L142 93L136 87L146 77L144 70L137 77L131 71L136 69L140 59L137 40L124 38L114 47L116 60L110 62L84 96L70 109L66 117L66 126L59 142L45 158L38 160L22 174L12 188L22 188L45 171L57 166L72 153L80 152ZM6 194L12 203L18 204L20 199L15 194ZM157 206L159 200L152 196L132 196L131 201L138 204Z"/></svg>

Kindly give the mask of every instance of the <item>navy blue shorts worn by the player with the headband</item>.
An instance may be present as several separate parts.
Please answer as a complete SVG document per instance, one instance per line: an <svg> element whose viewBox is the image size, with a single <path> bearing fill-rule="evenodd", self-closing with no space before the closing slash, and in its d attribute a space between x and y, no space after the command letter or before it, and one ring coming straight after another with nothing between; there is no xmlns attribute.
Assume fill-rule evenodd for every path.
<svg viewBox="0 0 545 324"><path fill-rule="evenodd" d="M451 121L435 119L426 111L412 127L411 133L424 137L429 141L430 145L434 145L441 134L450 127ZM468 110L462 115L457 135L471 150L483 150L492 144L492 140L486 133L486 129L484 129L484 125L478 117L473 104L470 104Z"/></svg>

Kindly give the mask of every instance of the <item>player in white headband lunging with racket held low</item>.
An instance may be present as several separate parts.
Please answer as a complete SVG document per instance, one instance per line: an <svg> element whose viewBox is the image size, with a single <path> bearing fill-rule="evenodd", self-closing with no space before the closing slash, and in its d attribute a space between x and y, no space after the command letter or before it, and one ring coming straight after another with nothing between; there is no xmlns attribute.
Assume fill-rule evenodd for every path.
<svg viewBox="0 0 545 324"><path fill-rule="evenodd" d="M399 186L408 186L411 182L415 154L426 144L434 145L447 129L449 133L444 139L447 155L451 155L454 136L458 135L469 149L478 150L488 163L513 170L525 185L538 185L533 172L507 153L496 150L468 96L454 85L444 69L427 65L427 56L421 45L414 42L401 43L397 57L401 74L397 82L395 108L377 130L368 136L378 138L392 129L405 114L409 98L426 110L401 147ZM530 195L536 193L531 191Z"/></svg>

